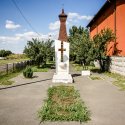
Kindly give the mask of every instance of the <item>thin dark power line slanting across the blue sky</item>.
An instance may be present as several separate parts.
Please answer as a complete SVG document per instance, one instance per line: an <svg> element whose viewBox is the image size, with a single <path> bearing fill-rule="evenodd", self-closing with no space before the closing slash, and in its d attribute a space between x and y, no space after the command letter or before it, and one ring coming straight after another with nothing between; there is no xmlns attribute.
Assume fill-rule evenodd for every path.
<svg viewBox="0 0 125 125"><path fill-rule="evenodd" d="M32 26L32 24L28 21L28 19L24 16L24 14L22 13L21 9L19 8L19 6L17 5L15 0L11 0L13 2L13 4L15 5L15 7L17 8L17 10L19 11L19 13L21 14L21 16L23 17L23 19L27 22L27 24L31 27L31 29L36 32L39 36L41 36L36 29Z"/></svg>

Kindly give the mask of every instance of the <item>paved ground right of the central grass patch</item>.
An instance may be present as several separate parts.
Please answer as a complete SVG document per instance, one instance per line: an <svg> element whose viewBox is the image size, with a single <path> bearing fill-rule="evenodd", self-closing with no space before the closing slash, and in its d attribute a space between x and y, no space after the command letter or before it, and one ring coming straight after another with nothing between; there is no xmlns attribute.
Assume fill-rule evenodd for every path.
<svg viewBox="0 0 125 125"><path fill-rule="evenodd" d="M125 91L119 91L110 80L90 80L81 76L75 79L92 113L89 125L125 125Z"/></svg>

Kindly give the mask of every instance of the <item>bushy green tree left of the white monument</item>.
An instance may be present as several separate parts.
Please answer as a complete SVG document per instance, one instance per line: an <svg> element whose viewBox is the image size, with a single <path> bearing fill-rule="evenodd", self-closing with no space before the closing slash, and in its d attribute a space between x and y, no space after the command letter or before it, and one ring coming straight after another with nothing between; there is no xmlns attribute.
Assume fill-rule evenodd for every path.
<svg viewBox="0 0 125 125"><path fill-rule="evenodd" d="M32 39L27 42L24 53L31 59L35 60L38 67L45 65L47 60L54 56L53 41L40 41L38 39Z"/></svg>

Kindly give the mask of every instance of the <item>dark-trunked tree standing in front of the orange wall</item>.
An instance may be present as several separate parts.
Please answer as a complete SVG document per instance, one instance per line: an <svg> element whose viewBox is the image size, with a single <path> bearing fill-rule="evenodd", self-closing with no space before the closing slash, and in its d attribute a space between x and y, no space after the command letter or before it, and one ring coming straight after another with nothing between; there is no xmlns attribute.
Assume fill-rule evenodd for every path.
<svg viewBox="0 0 125 125"><path fill-rule="evenodd" d="M110 61L107 56L107 46L115 38L115 34L109 28L101 30L93 37L93 57L99 61L101 71L108 70L105 67L106 63Z"/></svg>

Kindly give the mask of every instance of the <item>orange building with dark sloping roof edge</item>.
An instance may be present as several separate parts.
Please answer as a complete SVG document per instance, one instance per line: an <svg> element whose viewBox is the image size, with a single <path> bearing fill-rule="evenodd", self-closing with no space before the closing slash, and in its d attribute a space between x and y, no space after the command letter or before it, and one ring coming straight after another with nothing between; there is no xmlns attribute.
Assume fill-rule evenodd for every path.
<svg viewBox="0 0 125 125"><path fill-rule="evenodd" d="M110 28L116 34L119 56L125 56L125 0L107 0L89 22L91 38L103 28ZM113 42L108 46L108 55L114 53Z"/></svg>

